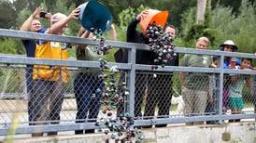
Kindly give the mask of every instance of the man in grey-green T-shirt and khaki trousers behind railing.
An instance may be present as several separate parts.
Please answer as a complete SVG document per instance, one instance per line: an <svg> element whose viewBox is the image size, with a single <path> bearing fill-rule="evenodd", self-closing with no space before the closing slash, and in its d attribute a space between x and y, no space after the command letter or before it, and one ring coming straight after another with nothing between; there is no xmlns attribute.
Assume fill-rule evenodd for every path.
<svg viewBox="0 0 256 143"><path fill-rule="evenodd" d="M200 37L196 42L195 48L205 50L208 45L208 38ZM211 63L211 56L185 54L180 60L179 66L208 68ZM188 116L204 114L208 99L209 76L204 73L180 72L179 82L181 84L181 95L185 103L184 114Z"/></svg>

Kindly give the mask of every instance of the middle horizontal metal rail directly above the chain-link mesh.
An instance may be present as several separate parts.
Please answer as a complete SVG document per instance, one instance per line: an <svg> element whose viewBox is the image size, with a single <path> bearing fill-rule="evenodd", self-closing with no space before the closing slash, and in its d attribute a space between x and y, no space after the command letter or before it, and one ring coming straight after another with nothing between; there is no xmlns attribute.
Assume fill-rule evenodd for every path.
<svg viewBox="0 0 256 143"><path fill-rule="evenodd" d="M60 65L67 67L79 67L79 68L99 68L98 61L84 61L76 59L46 59L46 58L26 58L16 55L0 55L0 63L2 64L31 64L31 65ZM114 63L107 62L109 66L118 66L121 70L131 70L132 64L130 63ZM135 64L135 70L152 71L151 65ZM153 71L185 71L185 72L206 72L206 73L220 73L220 68L198 68L198 67L178 67L178 66L165 66L162 68L158 66L158 69ZM223 73L236 73L236 74L256 74L256 71L243 71L243 70L230 70L225 69Z"/></svg>

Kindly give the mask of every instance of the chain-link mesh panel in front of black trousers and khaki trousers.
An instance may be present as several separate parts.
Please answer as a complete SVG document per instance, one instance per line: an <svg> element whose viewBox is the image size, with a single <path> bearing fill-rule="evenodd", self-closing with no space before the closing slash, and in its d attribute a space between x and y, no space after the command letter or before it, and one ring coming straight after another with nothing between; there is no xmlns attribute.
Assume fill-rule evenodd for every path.
<svg viewBox="0 0 256 143"><path fill-rule="evenodd" d="M217 113L215 74L140 71L136 72L136 80L135 112L146 119Z"/></svg>

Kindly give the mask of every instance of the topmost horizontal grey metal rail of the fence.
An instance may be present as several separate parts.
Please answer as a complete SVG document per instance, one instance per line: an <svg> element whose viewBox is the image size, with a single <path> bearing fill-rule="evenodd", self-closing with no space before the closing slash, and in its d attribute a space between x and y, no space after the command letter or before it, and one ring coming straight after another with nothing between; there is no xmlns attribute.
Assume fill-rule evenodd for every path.
<svg viewBox="0 0 256 143"><path fill-rule="evenodd" d="M7 29L0 29L0 37L36 39L36 40L64 42L64 43L70 43L70 44L99 45L97 41L94 41L92 39L87 39L87 38L44 34L44 33L36 33L36 32L21 32L21 31L15 31L15 30L7 30ZM149 50L148 45L142 45L142 44L117 42L117 41L109 41L109 40L107 40L106 43L108 45L121 47L121 48L135 48L135 49ZM188 47L177 47L175 51L178 53L186 53L186 54L225 56L225 57L236 57L236 58L256 58L256 55L249 54L249 53L223 52L218 50L199 50L199 49L188 48Z"/></svg>

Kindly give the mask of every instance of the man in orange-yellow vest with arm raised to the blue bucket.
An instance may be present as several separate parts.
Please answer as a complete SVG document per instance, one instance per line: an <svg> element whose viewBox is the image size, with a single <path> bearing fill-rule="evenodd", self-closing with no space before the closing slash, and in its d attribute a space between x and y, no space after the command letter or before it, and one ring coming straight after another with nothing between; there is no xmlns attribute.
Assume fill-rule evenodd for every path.
<svg viewBox="0 0 256 143"><path fill-rule="evenodd" d="M68 17L62 13L54 14L50 19L50 28L45 33L62 35L70 20L78 19L79 9L73 10ZM36 45L36 58L67 59L66 44L59 42L40 41ZM33 122L45 124L59 123L60 111L64 101L64 84L68 80L67 67L35 65L33 69ZM57 135L50 132L48 136ZM32 136L43 136L42 132Z"/></svg>

